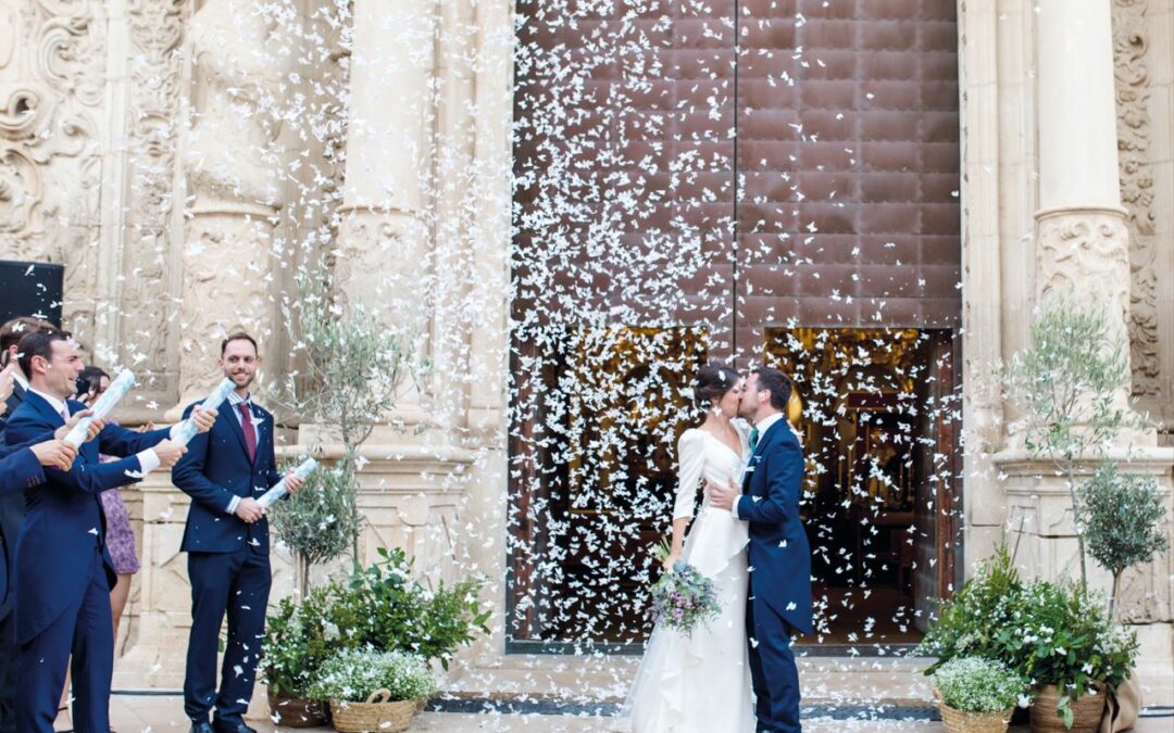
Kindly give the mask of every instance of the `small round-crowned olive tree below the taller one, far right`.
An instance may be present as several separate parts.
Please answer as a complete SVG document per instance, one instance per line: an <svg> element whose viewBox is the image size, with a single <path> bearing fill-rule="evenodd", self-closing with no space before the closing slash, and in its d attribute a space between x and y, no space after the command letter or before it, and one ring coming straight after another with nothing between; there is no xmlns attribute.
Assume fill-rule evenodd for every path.
<svg viewBox="0 0 1174 733"><path fill-rule="evenodd" d="M1169 547L1162 531L1166 507L1153 477L1121 474L1111 461L1080 487L1080 504L1088 554L1113 573L1112 617L1121 575Z"/></svg>

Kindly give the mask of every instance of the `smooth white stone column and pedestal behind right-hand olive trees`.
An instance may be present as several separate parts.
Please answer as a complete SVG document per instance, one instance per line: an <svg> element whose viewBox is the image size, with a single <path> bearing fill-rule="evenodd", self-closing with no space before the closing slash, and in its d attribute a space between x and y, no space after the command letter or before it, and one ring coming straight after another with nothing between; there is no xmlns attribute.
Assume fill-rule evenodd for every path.
<svg viewBox="0 0 1174 733"><path fill-rule="evenodd" d="M1128 215L1121 205L1118 108L1114 89L1112 0L1040 0L1038 62L1039 206L1035 213L1037 301L1058 292L1104 304L1115 335L1128 338L1131 263ZM1089 348L1099 345L1091 344ZM1125 406L1131 388L1116 395ZM1156 447L1153 430L1129 432L1108 459L1122 470L1154 477L1169 504L1174 450ZM1085 456L1078 481L1100 456ZM1021 446L997 454L1005 476L1008 542L1028 573L1079 576L1072 501L1051 462ZM1169 704L1172 555L1128 573L1119 598L1138 624L1143 649L1138 678L1147 704ZM1108 572L1089 558L1089 581L1109 588ZM1154 703L1154 700L1160 703Z"/></svg>

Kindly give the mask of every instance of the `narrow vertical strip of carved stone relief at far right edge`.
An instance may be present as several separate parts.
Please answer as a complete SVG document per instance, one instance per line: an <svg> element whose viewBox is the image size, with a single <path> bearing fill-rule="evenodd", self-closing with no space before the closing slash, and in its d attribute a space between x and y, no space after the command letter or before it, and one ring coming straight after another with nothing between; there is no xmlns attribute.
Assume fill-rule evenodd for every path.
<svg viewBox="0 0 1174 733"><path fill-rule="evenodd" d="M1161 393L1154 174L1149 160L1148 0L1114 0L1118 154L1121 201L1129 212L1129 345L1133 393Z"/></svg>

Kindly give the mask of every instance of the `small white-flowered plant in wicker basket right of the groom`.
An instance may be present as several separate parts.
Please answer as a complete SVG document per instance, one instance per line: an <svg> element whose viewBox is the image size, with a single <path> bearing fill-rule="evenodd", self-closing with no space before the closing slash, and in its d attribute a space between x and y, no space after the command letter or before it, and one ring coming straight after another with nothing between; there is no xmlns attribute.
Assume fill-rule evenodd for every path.
<svg viewBox="0 0 1174 733"><path fill-rule="evenodd" d="M946 733L1004 733L1024 680L1001 661L958 657L933 673Z"/></svg>

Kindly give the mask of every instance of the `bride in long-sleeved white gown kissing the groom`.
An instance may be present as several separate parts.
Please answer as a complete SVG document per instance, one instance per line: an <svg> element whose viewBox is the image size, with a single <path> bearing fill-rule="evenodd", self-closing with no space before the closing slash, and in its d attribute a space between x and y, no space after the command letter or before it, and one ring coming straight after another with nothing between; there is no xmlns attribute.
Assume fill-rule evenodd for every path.
<svg viewBox="0 0 1174 733"><path fill-rule="evenodd" d="M702 367L694 396L706 420L681 435L681 464L673 510L668 571L684 561L711 578L721 616L691 634L653 630L640 671L621 710L618 731L633 733L750 733L755 717L745 643L748 525L723 509L701 504L688 537L684 530L702 479L720 486L737 481L748 450L748 428L735 420L742 378L721 362ZM707 490L708 494L708 490Z"/></svg>

